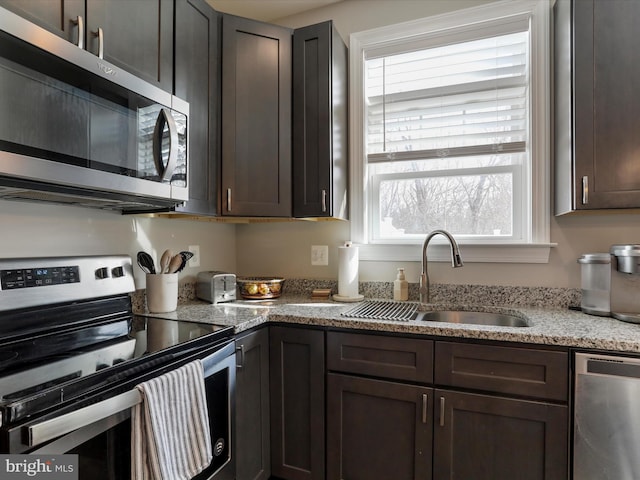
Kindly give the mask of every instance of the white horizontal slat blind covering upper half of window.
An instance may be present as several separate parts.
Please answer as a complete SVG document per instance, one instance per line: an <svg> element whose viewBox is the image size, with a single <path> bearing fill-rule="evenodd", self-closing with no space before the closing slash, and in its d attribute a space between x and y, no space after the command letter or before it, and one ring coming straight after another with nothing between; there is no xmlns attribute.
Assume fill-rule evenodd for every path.
<svg viewBox="0 0 640 480"><path fill-rule="evenodd" d="M370 163L524 152L528 31L370 58Z"/></svg>

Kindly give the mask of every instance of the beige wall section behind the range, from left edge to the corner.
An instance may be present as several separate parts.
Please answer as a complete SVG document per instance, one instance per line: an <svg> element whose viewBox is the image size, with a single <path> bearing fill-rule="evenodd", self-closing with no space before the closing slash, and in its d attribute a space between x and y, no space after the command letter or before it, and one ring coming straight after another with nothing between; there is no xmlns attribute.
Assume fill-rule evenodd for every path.
<svg viewBox="0 0 640 480"><path fill-rule="evenodd" d="M157 259L165 249L200 245L201 266L187 267L180 281L193 281L201 270L235 271L235 225L181 219L126 216L101 210L0 201L2 258L126 254L139 250ZM135 266L136 287L144 288Z"/></svg>

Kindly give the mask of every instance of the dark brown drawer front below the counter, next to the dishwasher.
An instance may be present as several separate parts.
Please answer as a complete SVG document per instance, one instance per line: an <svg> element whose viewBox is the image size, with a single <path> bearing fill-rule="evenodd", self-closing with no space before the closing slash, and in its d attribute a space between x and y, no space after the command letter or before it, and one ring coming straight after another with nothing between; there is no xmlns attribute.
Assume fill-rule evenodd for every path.
<svg viewBox="0 0 640 480"><path fill-rule="evenodd" d="M567 352L437 342L435 365L438 385L547 400L568 398Z"/></svg>

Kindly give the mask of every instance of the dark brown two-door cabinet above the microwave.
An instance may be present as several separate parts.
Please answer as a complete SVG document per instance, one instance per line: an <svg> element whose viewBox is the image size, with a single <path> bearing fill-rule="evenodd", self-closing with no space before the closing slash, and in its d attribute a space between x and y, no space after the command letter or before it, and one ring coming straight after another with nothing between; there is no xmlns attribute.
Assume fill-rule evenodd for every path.
<svg viewBox="0 0 640 480"><path fill-rule="evenodd" d="M0 5L171 92L173 0L0 0Z"/></svg>

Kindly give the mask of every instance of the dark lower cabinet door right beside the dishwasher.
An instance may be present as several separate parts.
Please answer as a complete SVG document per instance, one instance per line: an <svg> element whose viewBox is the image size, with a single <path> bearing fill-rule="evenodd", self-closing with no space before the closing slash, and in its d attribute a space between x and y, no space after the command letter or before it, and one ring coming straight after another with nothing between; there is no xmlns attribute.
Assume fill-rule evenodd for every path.
<svg viewBox="0 0 640 480"><path fill-rule="evenodd" d="M566 480L567 407L435 391L438 480Z"/></svg>

